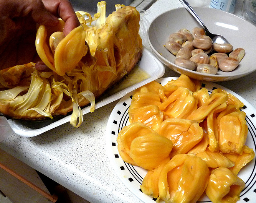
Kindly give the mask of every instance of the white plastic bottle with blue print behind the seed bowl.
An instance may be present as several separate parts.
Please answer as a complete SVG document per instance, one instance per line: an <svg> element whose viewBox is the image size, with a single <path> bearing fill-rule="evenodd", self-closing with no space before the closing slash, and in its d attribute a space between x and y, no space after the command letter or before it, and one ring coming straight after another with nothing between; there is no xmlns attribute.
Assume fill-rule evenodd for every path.
<svg viewBox="0 0 256 203"><path fill-rule="evenodd" d="M236 0L211 0L210 8L216 8L228 13L234 13Z"/></svg>

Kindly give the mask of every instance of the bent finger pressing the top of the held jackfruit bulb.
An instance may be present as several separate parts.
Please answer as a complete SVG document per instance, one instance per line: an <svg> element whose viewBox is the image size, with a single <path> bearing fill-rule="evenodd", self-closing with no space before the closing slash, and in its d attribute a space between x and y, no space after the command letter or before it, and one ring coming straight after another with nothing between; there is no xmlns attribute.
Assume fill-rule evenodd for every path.
<svg viewBox="0 0 256 203"><path fill-rule="evenodd" d="M68 0L43 0L43 3L50 13L60 17L65 22L63 31L65 36L80 25L73 6Z"/></svg>

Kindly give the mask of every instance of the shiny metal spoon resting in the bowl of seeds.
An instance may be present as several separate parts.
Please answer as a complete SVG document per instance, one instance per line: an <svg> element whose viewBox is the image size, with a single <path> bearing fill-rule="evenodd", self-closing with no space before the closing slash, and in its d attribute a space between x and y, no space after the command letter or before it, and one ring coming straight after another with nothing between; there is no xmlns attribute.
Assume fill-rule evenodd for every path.
<svg viewBox="0 0 256 203"><path fill-rule="evenodd" d="M211 32L208 31L208 29L206 28L205 24L203 23L203 21L201 21L201 19L198 17L198 15L195 13L195 11L193 10L193 8L190 6L190 4L187 2L187 0L180 0L180 3L182 3L182 5L193 15L193 17L198 21L198 23L203 27L203 29L205 30L205 34L208 35L209 37L211 37L211 40L218 44L230 44L228 42L228 40L226 40L225 37L219 35L219 34L212 34Z"/></svg>

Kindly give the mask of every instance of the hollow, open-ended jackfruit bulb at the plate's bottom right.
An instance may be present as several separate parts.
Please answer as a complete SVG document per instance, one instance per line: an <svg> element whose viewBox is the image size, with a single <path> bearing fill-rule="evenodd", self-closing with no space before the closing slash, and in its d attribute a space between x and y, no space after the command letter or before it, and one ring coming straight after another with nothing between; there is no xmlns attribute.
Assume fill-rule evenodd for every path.
<svg viewBox="0 0 256 203"><path fill-rule="evenodd" d="M205 193L213 203L235 203L245 183L230 169L219 167L211 172Z"/></svg>

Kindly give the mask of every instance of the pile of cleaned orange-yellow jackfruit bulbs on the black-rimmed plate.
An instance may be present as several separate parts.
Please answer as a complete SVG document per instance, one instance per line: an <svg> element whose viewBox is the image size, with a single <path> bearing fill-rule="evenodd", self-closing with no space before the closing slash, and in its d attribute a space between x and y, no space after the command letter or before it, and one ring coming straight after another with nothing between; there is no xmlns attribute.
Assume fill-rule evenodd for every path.
<svg viewBox="0 0 256 203"><path fill-rule="evenodd" d="M167 203L235 203L245 187L238 172L255 154L245 145L244 104L223 89L201 88L181 75L138 88L130 124L117 136L122 159L147 169L141 190Z"/></svg>

